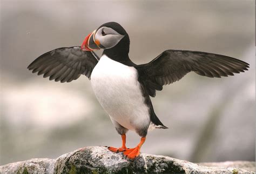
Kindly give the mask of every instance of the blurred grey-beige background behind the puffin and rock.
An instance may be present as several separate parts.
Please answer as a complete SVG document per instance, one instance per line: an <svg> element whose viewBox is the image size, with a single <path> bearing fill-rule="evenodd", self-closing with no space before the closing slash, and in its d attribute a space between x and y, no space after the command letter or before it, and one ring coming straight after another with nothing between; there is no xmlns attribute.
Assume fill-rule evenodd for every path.
<svg viewBox="0 0 256 174"><path fill-rule="evenodd" d="M56 83L26 67L58 47L79 46L108 21L129 33L137 64L166 49L199 50L251 64L246 73L190 73L152 98L169 129L142 151L192 162L254 161L254 1L1 1L1 161L56 158L85 146L120 146L90 81ZM100 55L100 52L97 52ZM133 147L139 136L127 134Z"/></svg>

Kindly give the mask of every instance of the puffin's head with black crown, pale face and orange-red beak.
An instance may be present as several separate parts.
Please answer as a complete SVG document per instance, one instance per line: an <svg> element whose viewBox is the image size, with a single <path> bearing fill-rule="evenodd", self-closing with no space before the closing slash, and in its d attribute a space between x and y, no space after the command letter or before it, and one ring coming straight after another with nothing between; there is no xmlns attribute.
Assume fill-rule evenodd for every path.
<svg viewBox="0 0 256 174"><path fill-rule="evenodd" d="M82 50L93 51L102 49L109 49L116 46L124 37L129 37L124 28L115 22L105 23L100 26L97 30L93 31L87 37L85 37L83 44L81 45Z"/></svg>

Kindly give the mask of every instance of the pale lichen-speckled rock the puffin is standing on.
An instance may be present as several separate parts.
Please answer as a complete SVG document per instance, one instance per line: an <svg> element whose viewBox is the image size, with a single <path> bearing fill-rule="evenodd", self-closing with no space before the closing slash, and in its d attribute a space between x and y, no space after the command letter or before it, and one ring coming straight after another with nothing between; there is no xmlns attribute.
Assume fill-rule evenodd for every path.
<svg viewBox="0 0 256 174"><path fill-rule="evenodd" d="M252 166L254 162L202 163L199 165L168 156L143 153L131 160L126 159L122 153L112 153L106 147L85 147L64 154L57 159L30 159L6 164L0 166L0 173L252 173L255 170L255 166L254 168Z"/></svg>

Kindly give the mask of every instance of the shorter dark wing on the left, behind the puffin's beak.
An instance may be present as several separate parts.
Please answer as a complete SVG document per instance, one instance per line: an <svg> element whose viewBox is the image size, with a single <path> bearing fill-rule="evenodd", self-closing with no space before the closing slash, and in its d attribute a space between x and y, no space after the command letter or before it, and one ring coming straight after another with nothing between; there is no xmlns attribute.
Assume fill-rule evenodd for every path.
<svg viewBox="0 0 256 174"><path fill-rule="evenodd" d="M80 47L63 47L53 49L39 56L28 69L37 75L44 75L55 82L71 82L84 74L90 79L99 57L93 52L85 52Z"/></svg>

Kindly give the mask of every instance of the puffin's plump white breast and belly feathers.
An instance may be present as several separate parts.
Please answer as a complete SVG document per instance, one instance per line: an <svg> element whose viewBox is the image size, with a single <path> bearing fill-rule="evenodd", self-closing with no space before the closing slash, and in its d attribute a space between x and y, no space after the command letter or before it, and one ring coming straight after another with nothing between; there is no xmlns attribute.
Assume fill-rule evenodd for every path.
<svg viewBox="0 0 256 174"><path fill-rule="evenodd" d="M136 130L150 124L149 108L134 67L125 66L103 55L91 74L95 95L111 119Z"/></svg>

